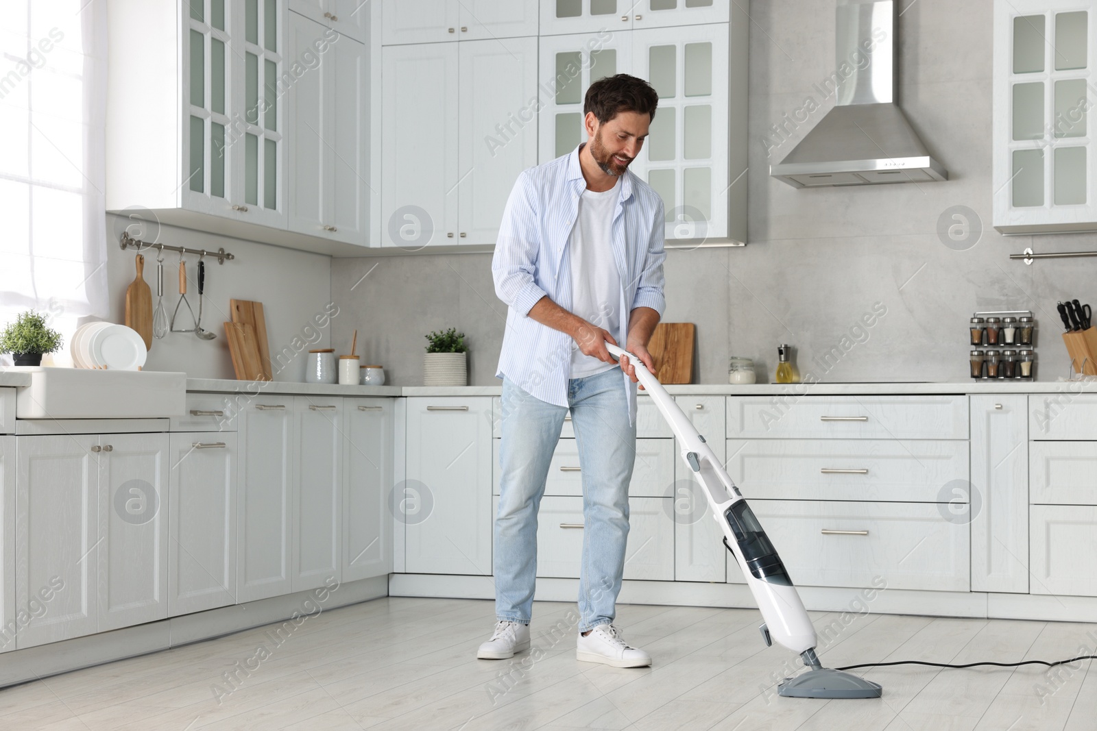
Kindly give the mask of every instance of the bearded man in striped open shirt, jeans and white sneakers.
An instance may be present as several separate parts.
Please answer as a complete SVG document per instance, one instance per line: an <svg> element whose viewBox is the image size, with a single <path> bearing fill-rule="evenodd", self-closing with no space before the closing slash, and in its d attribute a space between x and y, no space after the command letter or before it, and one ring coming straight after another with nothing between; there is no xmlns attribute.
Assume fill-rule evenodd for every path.
<svg viewBox="0 0 1097 731"><path fill-rule="evenodd" d="M497 624L477 658L530 647L538 509L570 410L583 475L583 566L576 658L617 667L652 664L613 626L629 535L636 456L636 376L606 343L624 343L652 368L647 342L663 315L664 207L629 171L658 95L619 73L587 91L587 142L524 171L499 229L491 271L507 331L499 509L495 521Z"/></svg>

